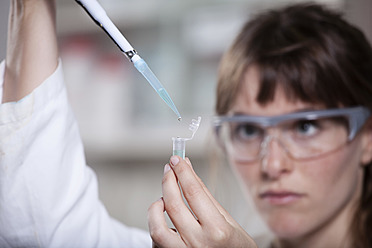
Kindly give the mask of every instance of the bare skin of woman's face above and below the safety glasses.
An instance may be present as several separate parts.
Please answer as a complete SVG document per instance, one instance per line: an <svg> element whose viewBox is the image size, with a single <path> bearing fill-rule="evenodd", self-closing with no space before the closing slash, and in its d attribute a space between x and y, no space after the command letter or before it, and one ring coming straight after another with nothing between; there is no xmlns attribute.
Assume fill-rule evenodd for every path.
<svg viewBox="0 0 372 248"><path fill-rule="evenodd" d="M258 75L256 67L248 68L233 113L273 116L320 108L301 101L289 102L280 89L272 102L259 105L255 102ZM334 232L334 228L347 226L350 210L361 192L360 165L370 159L365 154L367 139L363 135L357 135L342 149L307 161L292 160L277 141L272 141L261 161L245 164L230 158L230 162L278 237L294 239L317 230Z"/></svg>

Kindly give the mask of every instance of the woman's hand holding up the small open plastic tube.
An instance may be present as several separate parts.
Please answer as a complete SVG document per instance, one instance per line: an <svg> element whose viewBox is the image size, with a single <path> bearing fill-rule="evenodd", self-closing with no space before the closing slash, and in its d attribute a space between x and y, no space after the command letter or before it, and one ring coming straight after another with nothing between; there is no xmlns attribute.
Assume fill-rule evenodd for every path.
<svg viewBox="0 0 372 248"><path fill-rule="evenodd" d="M172 156L169 164L164 167L163 198L154 202L148 210L149 230L154 245L170 248L257 247L253 239L213 198L192 169L190 160ZM178 182L192 212L183 201ZM178 233L168 228L164 211Z"/></svg>

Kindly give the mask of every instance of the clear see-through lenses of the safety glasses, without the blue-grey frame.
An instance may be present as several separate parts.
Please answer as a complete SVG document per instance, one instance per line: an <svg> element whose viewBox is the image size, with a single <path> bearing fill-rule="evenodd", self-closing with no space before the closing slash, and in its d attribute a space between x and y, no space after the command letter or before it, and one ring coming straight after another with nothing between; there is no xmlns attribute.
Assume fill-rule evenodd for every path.
<svg viewBox="0 0 372 248"><path fill-rule="evenodd" d="M348 141L346 117L296 119L274 127L257 123L224 122L220 137L235 160L253 161L260 157L265 137L272 136L292 158L307 159L331 152Z"/></svg>

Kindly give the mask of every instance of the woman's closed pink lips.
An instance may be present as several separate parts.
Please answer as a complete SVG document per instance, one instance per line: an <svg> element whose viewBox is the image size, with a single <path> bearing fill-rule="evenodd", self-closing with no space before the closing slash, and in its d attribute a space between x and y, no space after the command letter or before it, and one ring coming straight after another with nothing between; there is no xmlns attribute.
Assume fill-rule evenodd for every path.
<svg viewBox="0 0 372 248"><path fill-rule="evenodd" d="M286 205L294 203L304 197L303 194L290 191L266 191L259 195L260 199L271 205Z"/></svg>

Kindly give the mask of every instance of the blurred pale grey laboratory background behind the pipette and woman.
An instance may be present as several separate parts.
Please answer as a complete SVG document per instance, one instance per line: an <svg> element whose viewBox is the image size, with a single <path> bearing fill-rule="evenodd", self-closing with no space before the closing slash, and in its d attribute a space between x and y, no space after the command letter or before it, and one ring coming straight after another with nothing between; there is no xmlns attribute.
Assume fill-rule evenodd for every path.
<svg viewBox="0 0 372 248"><path fill-rule="evenodd" d="M255 13L301 0L100 0L146 60L183 122L73 0L57 0L57 30L65 81L88 165L110 214L147 229L147 208L161 196L172 137L188 137L186 153L216 198L252 234L265 228L225 164L211 167L209 148L218 62L242 24ZM342 10L372 41L371 0L318 0ZM5 58L9 0L0 2L0 57ZM183 123L183 124L182 124Z"/></svg>

